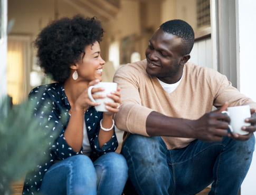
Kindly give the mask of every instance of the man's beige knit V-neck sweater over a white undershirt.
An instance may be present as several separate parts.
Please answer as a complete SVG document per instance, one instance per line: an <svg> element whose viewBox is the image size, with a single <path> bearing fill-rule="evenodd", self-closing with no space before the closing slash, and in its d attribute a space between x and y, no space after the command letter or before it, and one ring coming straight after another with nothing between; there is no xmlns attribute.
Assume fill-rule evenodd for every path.
<svg viewBox="0 0 256 195"><path fill-rule="evenodd" d="M224 102L229 106L256 103L232 87L226 76L207 67L187 62L181 83L167 93L156 77L146 72L146 60L122 66L113 81L121 87L121 108L115 115L120 130L148 136L147 116L157 111L167 116L195 120ZM182 124L181 124L182 125ZM184 148L194 139L162 137L168 149Z"/></svg>

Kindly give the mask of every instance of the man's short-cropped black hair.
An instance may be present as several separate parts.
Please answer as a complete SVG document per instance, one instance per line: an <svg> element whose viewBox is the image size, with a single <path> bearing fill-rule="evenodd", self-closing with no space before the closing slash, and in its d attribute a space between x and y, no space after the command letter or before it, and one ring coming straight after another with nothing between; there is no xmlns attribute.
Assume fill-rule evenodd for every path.
<svg viewBox="0 0 256 195"><path fill-rule="evenodd" d="M181 56L187 55L191 52L195 40L195 34L191 25L181 19L173 19L163 23L160 28L165 33L173 34L182 38L183 47Z"/></svg>

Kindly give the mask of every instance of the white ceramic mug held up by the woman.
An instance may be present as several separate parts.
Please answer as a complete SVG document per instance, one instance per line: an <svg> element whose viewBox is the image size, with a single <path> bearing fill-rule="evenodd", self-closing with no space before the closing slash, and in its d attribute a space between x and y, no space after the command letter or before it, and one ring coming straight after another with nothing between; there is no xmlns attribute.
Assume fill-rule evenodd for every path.
<svg viewBox="0 0 256 195"><path fill-rule="evenodd" d="M91 94L91 90L94 87L103 87L105 89L104 91L99 91L99 92L96 92L94 94L105 95L106 98L99 98L99 99L95 99L94 100L92 98L92 94ZM108 112L108 110L105 108L106 105L105 105L104 102L105 101L114 102L111 98L107 97L107 94L110 94L112 91L117 91L117 83L100 82L100 83L97 83L97 84L89 87L89 89L88 89L88 96L89 96L90 100L93 101L93 102L100 102L100 105L95 106L95 109L97 111Z"/></svg>

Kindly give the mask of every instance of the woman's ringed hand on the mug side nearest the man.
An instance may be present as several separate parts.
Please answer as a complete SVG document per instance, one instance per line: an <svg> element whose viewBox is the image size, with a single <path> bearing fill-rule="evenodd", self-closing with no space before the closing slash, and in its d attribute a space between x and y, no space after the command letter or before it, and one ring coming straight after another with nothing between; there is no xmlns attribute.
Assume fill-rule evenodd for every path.
<svg viewBox="0 0 256 195"><path fill-rule="evenodd" d="M111 98L114 102L105 101L106 109L109 112L103 112L106 115L113 115L117 113L120 108L121 100L120 100L120 87L117 87L117 91L111 92L111 94L107 94L108 98Z"/></svg>

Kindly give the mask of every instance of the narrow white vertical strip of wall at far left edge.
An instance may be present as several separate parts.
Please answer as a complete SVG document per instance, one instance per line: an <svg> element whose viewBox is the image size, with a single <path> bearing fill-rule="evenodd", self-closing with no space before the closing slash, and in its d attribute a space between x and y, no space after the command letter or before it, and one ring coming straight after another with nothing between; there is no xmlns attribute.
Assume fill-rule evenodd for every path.
<svg viewBox="0 0 256 195"><path fill-rule="evenodd" d="M3 40L0 40L0 100L6 95L6 59L7 59L7 0L3 0Z"/></svg>

